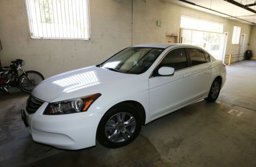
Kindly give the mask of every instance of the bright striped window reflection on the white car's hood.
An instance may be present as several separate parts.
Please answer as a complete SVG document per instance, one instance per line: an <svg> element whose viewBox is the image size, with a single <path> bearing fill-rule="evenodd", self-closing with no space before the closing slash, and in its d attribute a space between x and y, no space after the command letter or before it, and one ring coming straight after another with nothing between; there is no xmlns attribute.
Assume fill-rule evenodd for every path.
<svg viewBox="0 0 256 167"><path fill-rule="evenodd" d="M91 87L100 84L99 79L95 71L88 71L76 75L72 75L66 78L53 81L62 88L65 88L63 92L73 92L79 89Z"/></svg>

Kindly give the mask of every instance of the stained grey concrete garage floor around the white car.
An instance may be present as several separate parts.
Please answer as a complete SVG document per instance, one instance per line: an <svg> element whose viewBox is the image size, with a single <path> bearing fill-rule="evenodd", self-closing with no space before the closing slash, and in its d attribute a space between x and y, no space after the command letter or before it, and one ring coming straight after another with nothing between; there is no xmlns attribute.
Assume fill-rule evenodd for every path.
<svg viewBox="0 0 256 167"><path fill-rule="evenodd" d="M256 166L256 109L249 103L256 101L249 94L255 95L255 80L244 77L243 89L232 84L241 83L255 63L244 61L227 68L221 101L200 101L160 118L119 149L97 144L65 151L34 143L19 115L28 95L1 95L0 166ZM233 97L231 87L240 90L236 90L239 98Z"/></svg>

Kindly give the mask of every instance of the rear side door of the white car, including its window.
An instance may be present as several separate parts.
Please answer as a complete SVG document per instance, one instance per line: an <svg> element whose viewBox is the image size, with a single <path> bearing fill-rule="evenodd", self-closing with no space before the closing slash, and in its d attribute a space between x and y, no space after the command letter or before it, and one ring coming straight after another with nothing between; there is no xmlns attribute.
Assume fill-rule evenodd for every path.
<svg viewBox="0 0 256 167"><path fill-rule="evenodd" d="M193 99L199 99L208 94L212 82L214 67L210 55L199 48L187 48L190 59L190 87L193 89Z"/></svg>

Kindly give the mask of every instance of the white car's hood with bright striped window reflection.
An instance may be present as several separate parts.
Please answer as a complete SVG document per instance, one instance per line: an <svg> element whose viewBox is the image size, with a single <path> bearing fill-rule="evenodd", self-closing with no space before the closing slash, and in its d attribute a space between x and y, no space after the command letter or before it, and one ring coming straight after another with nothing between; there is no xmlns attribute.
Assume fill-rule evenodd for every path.
<svg viewBox="0 0 256 167"><path fill-rule="evenodd" d="M121 82L130 82L134 77L138 75L90 66L52 76L40 82L32 95L46 102L79 98L115 89Z"/></svg>

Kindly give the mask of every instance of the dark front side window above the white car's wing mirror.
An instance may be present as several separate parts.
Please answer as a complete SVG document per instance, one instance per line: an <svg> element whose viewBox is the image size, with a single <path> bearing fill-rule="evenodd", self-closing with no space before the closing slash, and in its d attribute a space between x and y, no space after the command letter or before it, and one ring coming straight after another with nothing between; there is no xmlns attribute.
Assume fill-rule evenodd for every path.
<svg viewBox="0 0 256 167"><path fill-rule="evenodd" d="M187 58L185 49L178 48L167 53L159 67L173 67L175 70L186 68Z"/></svg>

